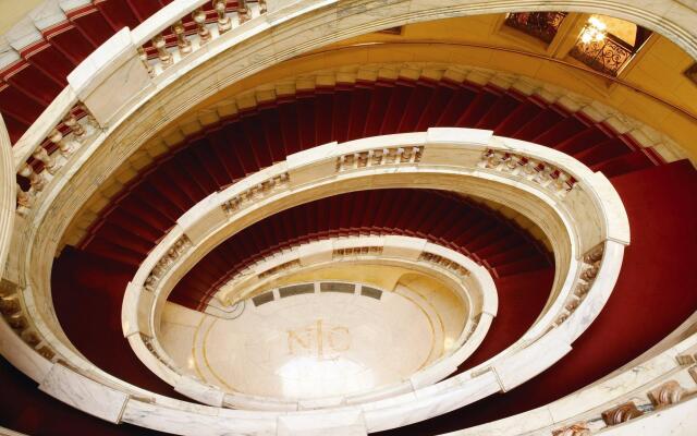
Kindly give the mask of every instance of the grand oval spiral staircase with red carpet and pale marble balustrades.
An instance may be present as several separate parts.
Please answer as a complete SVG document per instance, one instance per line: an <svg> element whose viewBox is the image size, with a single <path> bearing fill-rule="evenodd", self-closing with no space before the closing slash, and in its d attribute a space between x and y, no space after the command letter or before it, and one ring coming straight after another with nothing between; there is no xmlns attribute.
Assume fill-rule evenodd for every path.
<svg viewBox="0 0 697 436"><path fill-rule="evenodd" d="M697 53L681 2L548 3ZM515 69L308 57L510 8L30 12L0 57L0 434L697 431L697 173L694 146L668 134L680 126L662 134ZM319 318L281 331L313 311L323 334ZM305 353L302 388L273 393L290 382L257 340ZM348 349L404 374L309 374ZM243 358L258 365L239 364L236 384L217 375Z"/></svg>

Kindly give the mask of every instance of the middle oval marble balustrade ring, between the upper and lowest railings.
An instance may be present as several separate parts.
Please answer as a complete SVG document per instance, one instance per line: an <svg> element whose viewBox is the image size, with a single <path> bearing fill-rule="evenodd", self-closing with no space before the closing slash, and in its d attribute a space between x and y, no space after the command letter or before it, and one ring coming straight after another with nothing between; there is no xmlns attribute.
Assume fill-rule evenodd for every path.
<svg viewBox="0 0 697 436"><path fill-rule="evenodd" d="M338 157L355 155L356 153L360 154L370 149L386 148L384 145L387 144L398 147L401 146L401 144L408 144L411 146L418 145L423 147L421 159L418 164L408 161L403 162L403 165L402 162L398 164L399 171L396 172L391 167L364 167L355 168L352 171L338 171ZM505 171L492 171L491 169L484 169L478 166L478 162L481 161L481 154L487 149L510 149L511 147L515 147L516 152L519 152L522 155L531 156L540 161L554 162L555 168L563 169L564 172L572 174L574 179L578 180L577 184L568 195L560 197L538 183L521 183L516 174L511 174ZM444 175L445 173L453 174L455 170L461 171L460 175ZM441 172L442 175L439 175ZM281 173L289 174L289 189L269 192L266 196L255 202L254 208L247 207L239 209L233 216L224 214L222 204L228 201L227 198L246 192L249 187L258 185L259 181L268 180ZM561 279L555 281L555 288L552 290L552 295L554 295L553 303L548 305L546 313L540 316L538 323L518 342L493 360L485 362L478 367L454 377L452 380L448 379L441 384L429 386L432 380L441 379L443 374L448 374L448 371L451 368L447 363L442 366L435 365L432 374L427 372L424 376L415 377L412 380L413 386L417 387L417 389L428 386L429 391L435 396L432 397L433 401L441 401L444 398L441 396L450 392L453 386L458 386L457 389L460 389L461 386L464 392L469 391L468 389L476 390L478 389L477 386L481 386L480 384L484 383L486 387L484 387L485 390L482 392L485 393L482 395L486 396L493 391L511 389L528 377L538 374L543 368L553 364L555 360L561 359L561 356L570 350L570 343L590 325L611 292L616 275L619 274L622 258L623 249L622 244L617 241L628 241L628 229L626 228L626 216L620 213L621 204L616 203L619 202L616 194L612 195L611 191L608 191L609 183L607 179L599 178L566 156L549 149L535 148L528 143L494 137L490 132L460 129L431 129L426 134L392 135L360 140L342 145L328 144L317 147L316 149L301 152L290 156L285 162L277 164L277 166L267 168L260 173L244 179L224 191L209 196L200 203L203 209L199 211L194 213L194 209L187 211L185 214L186 219L180 220L182 227L178 226L170 230L170 233L160 243L161 249L160 246L156 247L151 252L152 259L146 259L140 269L144 271L151 270L151 267L147 265L155 265L162 254L167 253L172 244L183 234L189 235L189 239L195 241L194 249L187 251L186 256L180 258L164 277L161 278L158 283L158 289L155 290L155 298L149 296L143 299L146 293L150 294L151 292L140 292L138 294L137 283L146 279L147 275L145 274L136 274L132 286L129 287L126 299L124 300L124 313L131 315L129 315L124 322L124 335L129 337L136 353L144 359L143 352L148 352L146 347L137 346L133 342L133 340L139 340L140 338L139 335L134 335L135 332L144 332L138 326L144 326L146 330L157 326L158 313L160 313L160 308L158 307L161 307L167 298L167 291L162 291L171 289L173 283L181 277L181 271L185 270L188 265L195 264L206 252L215 247L230 234L239 231L250 222L261 219L264 216L273 214L279 207L291 207L299 198L303 198L302 201L310 201L317 194L327 195L326 193L328 192L339 193L343 190L356 189L356 186L364 186L365 189L364 180L366 177L371 178L375 186L386 185L384 182L380 182L380 180L384 180L387 185L390 186L401 185L400 180L408 180L409 183L419 183L419 180L429 180L427 185L432 189L442 186L440 189L457 190L457 187L453 186L467 185L467 189L472 190L469 194L484 195L486 198L492 201L497 198L501 201L503 197L499 198L498 196L505 195L505 198L513 198L513 202L521 202L519 204L512 205L515 209L536 210L529 218L540 226L548 234L548 238L551 239L555 255L562 253L559 254L560 257L558 257L560 259L558 264L561 265L560 269L558 269L560 271L558 275L561 275ZM427 177L428 179L419 179L419 177ZM462 177L467 178L468 183L463 184L457 182L458 178ZM439 178L441 178L440 181ZM500 186L491 190L491 187L497 184L500 184ZM513 186L515 186L516 190L522 190L525 194L512 195L511 193L504 193ZM602 193L602 195L597 193ZM298 199L293 199L295 197ZM594 218L594 214L608 214L608 219L596 219ZM200 221L200 223L197 223L198 221ZM588 225L587 228L583 228L586 221L594 222L594 225ZM623 221L624 223L622 223ZM596 222L597 225L595 225ZM575 226L580 227L582 231L574 232L572 229ZM195 237L191 237L192 234ZM564 234L576 234L576 237L563 237ZM604 241L603 256L601 259L596 258L596 261L592 261L597 255L591 253L591 251L598 246L601 241ZM567 246L567 244L571 245ZM370 245L363 246L368 247ZM359 249L363 250L362 247ZM415 250L408 246L401 246L399 250L402 251L403 255L413 256L413 259L417 262L424 252L423 247ZM427 252L442 256L438 246L433 246ZM563 254L564 252L567 253L570 257L564 257L566 256ZM579 253L586 253L588 255L586 256L586 261L590 264L600 261L600 268L596 272L592 272L596 274L596 278L585 300L578 304L565 320L561 324L553 325L559 311L564 307L567 299L573 293L577 277L585 277L583 279L584 281L591 279L590 275L585 270L584 259ZM327 249L328 258L333 258L333 247ZM299 263L302 266L302 257L298 258L293 255L283 256L283 254L278 256L278 265L292 265L292 267L296 267L297 263ZM381 257L390 257L390 251L383 247ZM572 259L576 257L582 258L582 261L572 262ZM431 258L438 259L432 256ZM566 261L564 261L564 258L566 258ZM273 267L276 266L277 265L273 265ZM269 269L271 269L270 265L264 265L262 268L259 268L258 272L264 272ZM448 270L448 274L452 274L454 277L462 277L455 274L452 268L443 268L443 270ZM564 277L566 277L566 279L564 279ZM273 275L269 275L268 278L272 279ZM142 303L146 304L146 306L142 306ZM148 306L150 307L149 310L143 308ZM486 325L482 319L476 324L477 328L479 324ZM549 328L550 326L552 327L551 329ZM150 336L150 334L147 335L148 337L157 338L156 336ZM466 335L468 335L468 330ZM476 336L476 331L472 334L472 336ZM465 344L468 342L469 341L465 342ZM154 347L154 349L156 348ZM162 362L155 365L155 361L158 361L158 359L149 352L148 354L151 358L146 356L145 360L154 359L154 366L148 364L148 366L155 368L154 371L159 373L167 368L167 365L163 365ZM498 377L491 378L492 371L496 371ZM175 386L182 383L181 378L178 379L172 375L166 376L166 378ZM197 384L194 382L192 385L191 380L186 383L188 384L187 386L189 386L187 391L193 396L203 396L204 392L210 392L210 387L199 386L198 388L191 388ZM370 419L370 411L380 410L382 407L380 404L383 400L380 398L390 397L389 401L391 405L389 405L388 409L391 410L394 407L399 407L400 410L405 413L402 414L402 412L400 412L402 416L400 422L404 423L404 416L408 415L406 411L414 411L412 405L409 405L413 399L405 397L404 392L399 389L396 391L388 391L391 393L388 395L387 391L378 391L370 393L365 399L354 399L351 403L353 404L355 401L358 401L362 404L365 417ZM288 405L280 404L278 401L255 401L254 399L228 397L224 395L222 397L216 395L210 398L212 398L211 401L215 401L215 404L221 401L222 404L230 404L235 408L278 408L276 410L288 410L284 409ZM481 397L475 395L474 397L466 396L466 398L467 401L475 401ZM364 403L363 400L367 400L368 402ZM458 402L458 404L462 404L462 402ZM316 408L318 405L315 404L314 407ZM331 411L334 410L332 408L335 407L335 403L328 402L325 407L329 408L326 413L333 413ZM444 411L449 409L445 407L440 410ZM419 413L418 415L408 416L407 422L414 422L423 419L425 415ZM370 428L371 431L377 431L399 425L396 422L392 422L392 424L389 422L383 422Z"/></svg>

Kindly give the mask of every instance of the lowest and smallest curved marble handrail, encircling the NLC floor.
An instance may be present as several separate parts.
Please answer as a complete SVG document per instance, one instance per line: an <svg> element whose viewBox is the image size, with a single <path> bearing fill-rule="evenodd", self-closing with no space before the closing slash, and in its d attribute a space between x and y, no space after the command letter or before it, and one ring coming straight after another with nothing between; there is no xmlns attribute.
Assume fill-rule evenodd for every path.
<svg viewBox="0 0 697 436"><path fill-rule="evenodd" d="M204 201L198 206L205 209L210 206L210 203ZM195 210L197 206L194 206L187 214L204 216L200 210ZM181 238L178 241L180 240ZM466 302L468 307L467 324L461 331L455 342L455 348L448 355L413 374L409 379L402 384L379 387L374 391L352 393L341 399L315 399L308 402L313 404L314 409L320 408L322 404L334 405L337 401L350 404L371 401L384 396L386 391L392 395L395 392L408 392L447 377L456 371L457 366L477 349L497 314L498 296L496 286L486 268L444 246L418 238L400 235L329 239L286 249L281 255L271 255L266 259L259 261L256 267L252 267L253 271L242 277L235 287L236 289L244 289L244 291L236 293L234 301L248 299L249 295L255 293L255 290L264 289L272 279L279 277L279 272L288 274L316 267L317 265L329 265L334 262L337 251L345 252L352 247L363 246L379 249L376 251L379 256L367 255L358 258L374 258L376 261L379 258L381 263L403 265L406 268L421 270L424 274L436 275L441 280L452 283L451 287L458 291L458 296ZM366 250L366 252L368 251ZM157 286L147 288L147 279L145 282L140 282L137 279L138 277L146 277L152 263L160 264L161 261L157 261L157 257L160 255L161 250L156 249L151 253L156 259L146 259L143 263L142 268L145 269L145 272L136 272L134 280L129 283L123 301L122 326L124 337L127 338L138 359L151 372L174 386L176 390L210 405L231 404L237 409L264 410L303 409L305 403L302 400L253 397L239 392L223 393L211 386L187 377L178 368L158 339L159 324L150 324L150 320L158 318L159 314L148 316L148 313L150 313L148 304L154 303L152 295L157 295L160 289ZM168 250L166 253L166 257L170 258L168 261L169 265L176 263L179 256L183 254L172 250ZM293 269L278 268L293 261L295 261ZM350 261L343 259L342 262ZM268 271L274 272L269 275L267 274ZM147 277L151 276L147 275ZM230 300L230 298L229 294L219 296L223 301ZM472 338L472 341L465 342L468 338ZM215 403L210 403L211 400Z"/></svg>

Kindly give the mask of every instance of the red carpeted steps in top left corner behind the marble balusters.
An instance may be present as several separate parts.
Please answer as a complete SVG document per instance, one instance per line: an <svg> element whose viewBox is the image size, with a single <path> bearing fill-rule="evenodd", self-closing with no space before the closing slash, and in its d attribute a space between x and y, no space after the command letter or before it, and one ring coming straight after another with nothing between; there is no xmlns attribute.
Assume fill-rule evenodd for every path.
<svg viewBox="0 0 697 436"><path fill-rule="evenodd" d="M54 24L39 28L30 20L21 35L35 34L25 47L8 47L0 66L0 112L14 144L68 85L68 74L89 53L123 27L135 28L172 0L93 0L87 4L62 9ZM63 5L62 5L63 7ZM237 1L228 1L235 11ZM203 5L207 21L216 20L211 2ZM46 17L44 19L46 20ZM195 33L191 16L183 20L187 33ZM168 46L175 46L170 29L164 29ZM147 52L155 49L148 44ZM14 59L12 59L14 58Z"/></svg>

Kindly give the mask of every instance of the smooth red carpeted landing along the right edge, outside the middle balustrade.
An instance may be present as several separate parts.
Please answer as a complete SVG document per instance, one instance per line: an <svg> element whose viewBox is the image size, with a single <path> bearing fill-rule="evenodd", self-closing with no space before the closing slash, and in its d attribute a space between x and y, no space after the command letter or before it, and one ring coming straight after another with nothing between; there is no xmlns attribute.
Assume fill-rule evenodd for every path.
<svg viewBox="0 0 697 436"><path fill-rule="evenodd" d="M438 435L545 405L637 358L697 311L697 171L682 160L611 181L629 216L632 245L625 251L610 300L573 350L547 372L505 395L376 435ZM501 284L504 289L499 289L499 294L505 299L510 290L498 280L497 286ZM525 304L525 299L516 303ZM493 353L487 351L493 347L489 339L504 328L501 324L508 324L510 317L501 312L506 307L500 305L487 339L463 368Z"/></svg>

